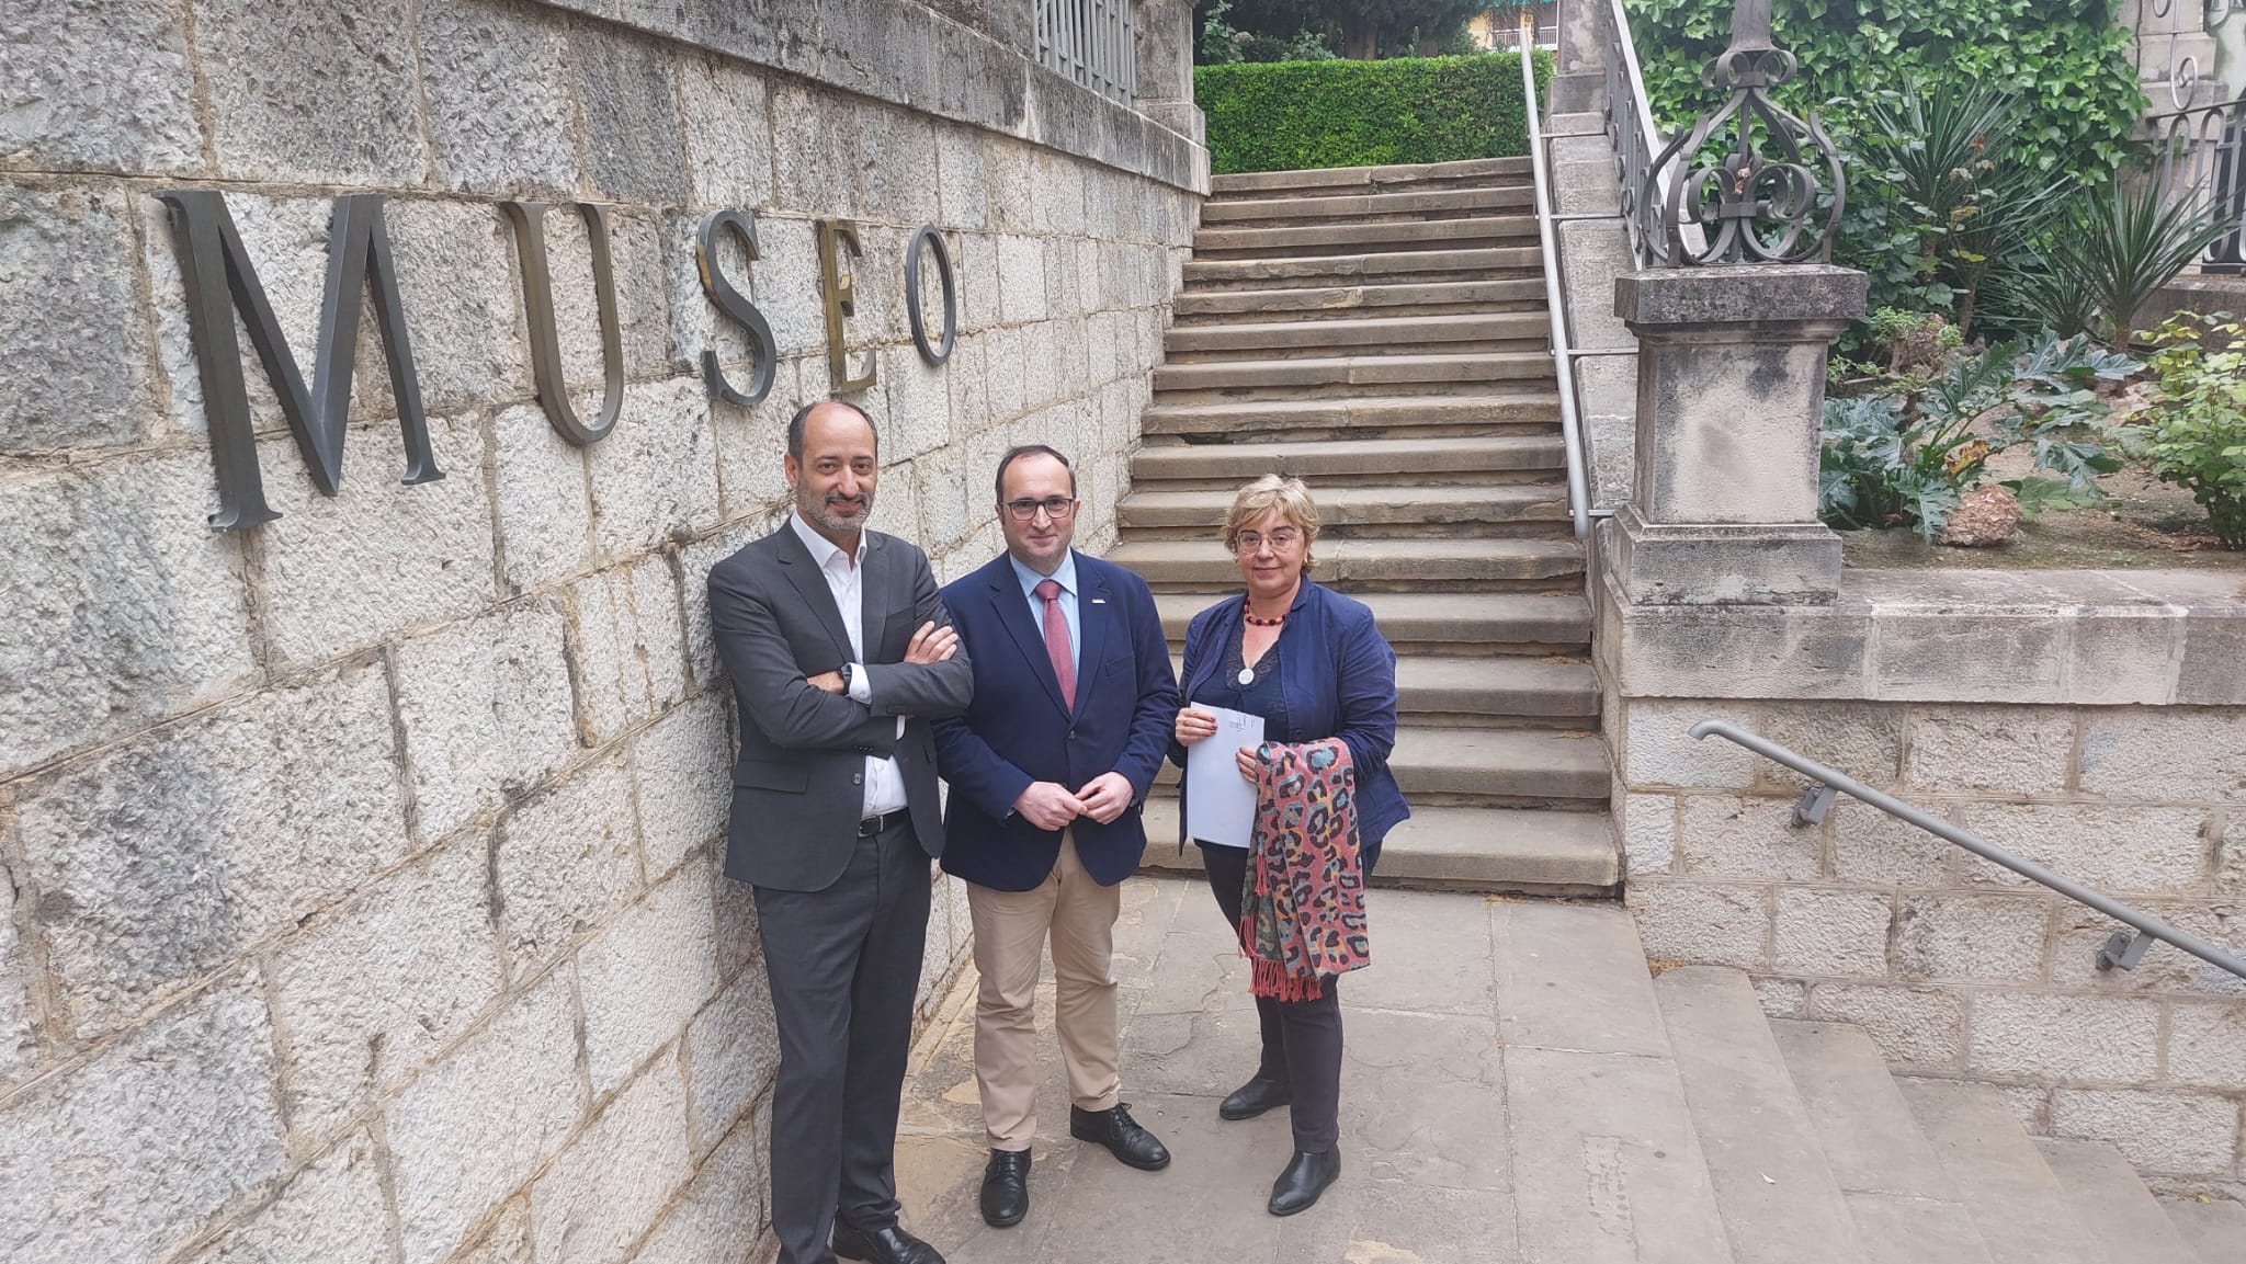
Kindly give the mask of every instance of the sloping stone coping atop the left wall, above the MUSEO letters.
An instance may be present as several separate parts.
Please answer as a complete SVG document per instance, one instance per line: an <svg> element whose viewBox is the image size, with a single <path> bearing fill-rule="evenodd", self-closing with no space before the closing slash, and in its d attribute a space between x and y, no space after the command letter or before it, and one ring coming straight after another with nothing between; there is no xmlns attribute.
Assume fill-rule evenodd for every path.
<svg viewBox="0 0 2246 1264"><path fill-rule="evenodd" d="M532 0L860 92L1208 195L1208 150L1017 47L898 0L627 4ZM838 36L858 36L842 43ZM1172 123L1177 119L1170 119Z"/></svg>

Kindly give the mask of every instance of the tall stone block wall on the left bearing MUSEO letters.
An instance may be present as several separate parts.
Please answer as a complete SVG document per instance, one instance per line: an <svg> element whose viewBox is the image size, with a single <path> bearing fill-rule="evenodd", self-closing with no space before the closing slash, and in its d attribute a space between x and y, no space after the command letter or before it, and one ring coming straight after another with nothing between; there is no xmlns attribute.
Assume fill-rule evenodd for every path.
<svg viewBox="0 0 2246 1264"><path fill-rule="evenodd" d="M1020 9L1020 13L1015 11ZM703 575L784 514L827 391L813 222L856 218L874 521L943 579L997 454L1114 532L1197 146L1024 56L1029 0L36 2L0 58L0 1260L739 1260L775 1051L719 876L730 694ZM310 370L339 193L389 193L445 478L400 485L368 321L321 496L247 368L279 521L220 534L162 189L222 189ZM611 207L627 391L535 400L503 200ZM694 227L779 344L710 402ZM907 337L934 222L959 346ZM591 251L553 233L577 406ZM934 294L932 267L928 294ZM355 299L357 301L357 299ZM930 314L939 310L928 303ZM243 344L247 352L247 341ZM966 945L930 925L923 1004Z"/></svg>

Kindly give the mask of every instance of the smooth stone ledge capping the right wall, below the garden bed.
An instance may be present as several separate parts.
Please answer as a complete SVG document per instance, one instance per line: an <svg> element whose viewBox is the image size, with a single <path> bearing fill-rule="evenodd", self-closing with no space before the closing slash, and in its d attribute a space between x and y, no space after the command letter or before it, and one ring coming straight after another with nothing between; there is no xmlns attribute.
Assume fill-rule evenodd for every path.
<svg viewBox="0 0 2246 1264"><path fill-rule="evenodd" d="M1844 570L1828 606L1633 606L1601 568L1597 604L1624 696L2246 705L2237 575Z"/></svg>

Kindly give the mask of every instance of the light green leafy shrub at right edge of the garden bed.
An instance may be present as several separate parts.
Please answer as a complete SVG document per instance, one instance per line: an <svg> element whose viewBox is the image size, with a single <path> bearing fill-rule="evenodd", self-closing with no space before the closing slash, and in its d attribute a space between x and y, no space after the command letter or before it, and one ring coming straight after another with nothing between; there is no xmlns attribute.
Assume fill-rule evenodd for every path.
<svg viewBox="0 0 2246 1264"><path fill-rule="evenodd" d="M2224 548L2246 548L2246 323L2176 312L2152 344L2154 395L2131 451L2192 492Z"/></svg>

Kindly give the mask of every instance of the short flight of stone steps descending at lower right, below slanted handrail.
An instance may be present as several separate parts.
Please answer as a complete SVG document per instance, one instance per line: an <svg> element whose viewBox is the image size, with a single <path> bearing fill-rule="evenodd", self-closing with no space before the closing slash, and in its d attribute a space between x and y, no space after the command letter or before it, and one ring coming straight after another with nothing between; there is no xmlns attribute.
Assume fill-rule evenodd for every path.
<svg viewBox="0 0 2246 1264"><path fill-rule="evenodd" d="M2163 1203L2107 1143L2030 1138L1999 1089L1896 1080L1860 1028L1765 1019L1736 970L1687 965L1653 979L1651 995L1624 986L1601 988L1599 999L1617 1006L1610 1026L1658 1031L1667 1048L1644 1053L1676 1069L1673 1080L1640 1073L1631 1084L1637 1123L1604 1138L1619 1147L1615 1192L1664 1208L1662 1226L1631 1217L1635 1253L1617 1260L2246 1260L2246 1206ZM1655 1013L1631 1013L1646 1006ZM1608 1257L1590 1248L1599 1217L1586 1221L1577 1233L1588 1239L1552 1260ZM1658 1248L1649 1230L1662 1235Z"/></svg>

